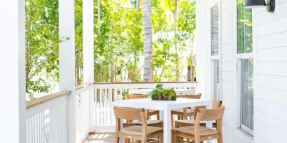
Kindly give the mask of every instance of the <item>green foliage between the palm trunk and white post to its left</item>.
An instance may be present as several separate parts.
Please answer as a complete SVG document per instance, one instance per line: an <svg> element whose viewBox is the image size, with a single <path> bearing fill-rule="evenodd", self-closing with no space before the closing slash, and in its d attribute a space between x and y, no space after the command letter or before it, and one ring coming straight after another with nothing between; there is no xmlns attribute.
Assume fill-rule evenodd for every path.
<svg viewBox="0 0 287 143"><path fill-rule="evenodd" d="M94 6L94 81L141 81L141 10L129 1L100 1L100 7L94 1ZM115 72L118 68L120 75Z"/></svg>

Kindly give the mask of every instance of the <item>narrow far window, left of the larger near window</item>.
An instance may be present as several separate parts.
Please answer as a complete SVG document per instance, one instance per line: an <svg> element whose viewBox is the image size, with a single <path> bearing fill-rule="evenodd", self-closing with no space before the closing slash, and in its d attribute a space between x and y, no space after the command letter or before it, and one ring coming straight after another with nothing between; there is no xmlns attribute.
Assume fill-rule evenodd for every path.
<svg viewBox="0 0 287 143"><path fill-rule="evenodd" d="M220 49L219 49L219 4L211 7L211 93L220 100Z"/></svg>

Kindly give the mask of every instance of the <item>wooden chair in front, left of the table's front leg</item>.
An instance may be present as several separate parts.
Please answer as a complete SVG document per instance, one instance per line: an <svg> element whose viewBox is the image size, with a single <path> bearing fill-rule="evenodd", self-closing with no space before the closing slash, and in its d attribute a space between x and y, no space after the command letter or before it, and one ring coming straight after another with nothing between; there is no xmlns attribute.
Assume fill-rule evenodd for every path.
<svg viewBox="0 0 287 143"><path fill-rule="evenodd" d="M163 129L160 127L147 126L146 112L143 108L125 108L113 107L116 117L116 133L115 142L119 143L120 137L129 140L137 140L142 143L153 140L153 138L160 136L160 143L163 143ZM137 120L141 122L141 126L130 126L127 128L120 128L120 120Z"/></svg>

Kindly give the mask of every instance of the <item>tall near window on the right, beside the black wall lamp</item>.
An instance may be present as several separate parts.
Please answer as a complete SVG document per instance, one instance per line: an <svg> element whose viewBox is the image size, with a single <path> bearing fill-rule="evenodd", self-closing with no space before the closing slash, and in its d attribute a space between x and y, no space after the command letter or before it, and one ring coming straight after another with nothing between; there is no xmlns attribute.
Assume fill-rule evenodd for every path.
<svg viewBox="0 0 287 143"><path fill-rule="evenodd" d="M237 80L240 96L240 126L253 135L253 45L252 10L237 0Z"/></svg>

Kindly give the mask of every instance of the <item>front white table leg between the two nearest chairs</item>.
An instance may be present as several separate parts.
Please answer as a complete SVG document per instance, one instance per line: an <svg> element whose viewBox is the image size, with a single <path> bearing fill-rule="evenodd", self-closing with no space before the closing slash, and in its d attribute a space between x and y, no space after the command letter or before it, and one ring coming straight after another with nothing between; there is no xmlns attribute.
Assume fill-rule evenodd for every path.
<svg viewBox="0 0 287 143"><path fill-rule="evenodd" d="M172 129L172 122L170 121L170 112L171 110L164 111L164 143L171 143L171 129Z"/></svg>

